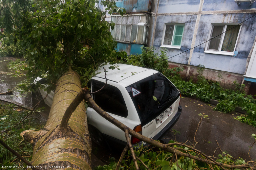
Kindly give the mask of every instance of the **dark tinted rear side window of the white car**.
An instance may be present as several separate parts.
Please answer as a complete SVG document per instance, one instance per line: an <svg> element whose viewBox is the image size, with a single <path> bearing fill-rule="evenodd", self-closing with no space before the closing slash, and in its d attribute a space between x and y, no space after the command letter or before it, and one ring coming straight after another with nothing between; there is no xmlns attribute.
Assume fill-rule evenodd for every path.
<svg viewBox="0 0 256 170"><path fill-rule="evenodd" d="M92 82L93 92L98 91L105 84L97 80L92 80ZM93 98L96 104L106 112L122 117L127 117L128 110L125 105L123 95L117 87L106 84L103 89L93 94Z"/></svg>

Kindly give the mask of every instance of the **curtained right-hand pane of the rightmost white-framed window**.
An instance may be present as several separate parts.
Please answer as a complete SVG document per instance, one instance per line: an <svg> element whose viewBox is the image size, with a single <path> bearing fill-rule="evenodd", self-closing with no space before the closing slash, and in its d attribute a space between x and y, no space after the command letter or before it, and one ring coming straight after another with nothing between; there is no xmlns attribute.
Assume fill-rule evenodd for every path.
<svg viewBox="0 0 256 170"><path fill-rule="evenodd" d="M234 28L233 27L234 27L234 25L227 25L226 30L228 30L228 31L225 32L221 51L231 51L231 52L234 51L237 36L238 36L239 30L240 30L240 25L238 25Z"/></svg>

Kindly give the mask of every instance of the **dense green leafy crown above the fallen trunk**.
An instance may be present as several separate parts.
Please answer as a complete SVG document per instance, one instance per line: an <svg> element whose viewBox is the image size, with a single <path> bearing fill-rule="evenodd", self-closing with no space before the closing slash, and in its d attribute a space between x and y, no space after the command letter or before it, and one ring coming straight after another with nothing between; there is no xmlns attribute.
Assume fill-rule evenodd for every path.
<svg viewBox="0 0 256 170"><path fill-rule="evenodd" d="M23 13L22 28L4 38L5 42L20 40L27 63L32 66L29 77L46 76L49 90L53 90L56 80L71 65L84 86L98 64L126 55L115 51L117 42L109 31L114 23L105 21L106 11L96 3L102 3L109 13L125 12L112 0L32 1L31 10Z"/></svg>

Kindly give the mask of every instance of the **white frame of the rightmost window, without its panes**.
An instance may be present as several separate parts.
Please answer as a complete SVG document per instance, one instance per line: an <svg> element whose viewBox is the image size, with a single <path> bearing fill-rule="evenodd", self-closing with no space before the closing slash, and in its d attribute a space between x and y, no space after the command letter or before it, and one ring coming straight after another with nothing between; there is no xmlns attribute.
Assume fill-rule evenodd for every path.
<svg viewBox="0 0 256 170"><path fill-rule="evenodd" d="M239 32L238 32L238 35L237 35L237 39L236 39L236 43L235 43L235 46L234 46L234 50L231 51L231 52L228 52L228 51L221 51L222 49L222 45L223 45L223 41L224 41L224 37L225 37L225 31L226 31L226 28L228 25L237 25L237 24L212 24L211 26L211 30L209 31L209 35L208 35L208 38L207 38L207 42L206 42L206 45L205 45L205 50L204 50L204 53L210 53L210 54L222 54L222 55L227 55L227 56L234 56L234 52L236 50L236 45L237 45L237 42L238 42L238 38L239 38L239 35L240 35L240 31L241 31L241 28L242 28L242 24L240 25L240 29L239 29ZM213 31L213 27L214 26L224 26L223 28L223 31L222 31L222 35L221 35L221 42L219 44L219 50L210 50L208 49L209 48L209 40L211 38L211 35L212 35L212 31Z"/></svg>

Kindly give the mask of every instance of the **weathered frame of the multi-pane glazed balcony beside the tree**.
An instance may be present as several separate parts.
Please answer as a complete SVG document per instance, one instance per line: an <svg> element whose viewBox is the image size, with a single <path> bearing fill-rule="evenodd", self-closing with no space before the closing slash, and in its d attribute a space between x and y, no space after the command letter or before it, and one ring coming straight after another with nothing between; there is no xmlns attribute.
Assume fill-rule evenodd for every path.
<svg viewBox="0 0 256 170"><path fill-rule="evenodd" d="M138 24L133 24L134 22L134 16L142 16L144 15L145 16L145 23L144 25L140 25L140 23ZM148 25L149 25L149 21L150 21L150 15L149 14L146 14L146 13L143 13L143 14L128 14L128 15L124 15L124 17L129 17L129 16L132 16L132 23L131 24L122 24L122 21L121 21L121 24L116 24L117 23L117 17L120 17L121 15L112 15L111 16L111 21L113 21L113 18L115 17L115 27L114 29L110 30L111 31L111 35L116 39L116 29L117 29L117 25L120 25L119 26L119 38L116 39L117 42L125 42L125 43L136 43L136 44L147 44L147 33L148 33ZM121 16L122 17L122 16ZM122 17L123 19L123 17ZM127 18L128 19L128 18ZM133 25L137 25L137 31L136 31L136 42L133 42L132 41L132 30L133 30ZM121 40L121 30L122 30L122 27L125 26L125 34L124 34L124 40ZM130 26L130 31L129 31L129 41L126 40L126 34L127 34L127 26ZM139 26L143 26L143 37L142 37L142 42L137 42L138 41L138 31L139 31ZM114 33L112 33L114 31Z"/></svg>

